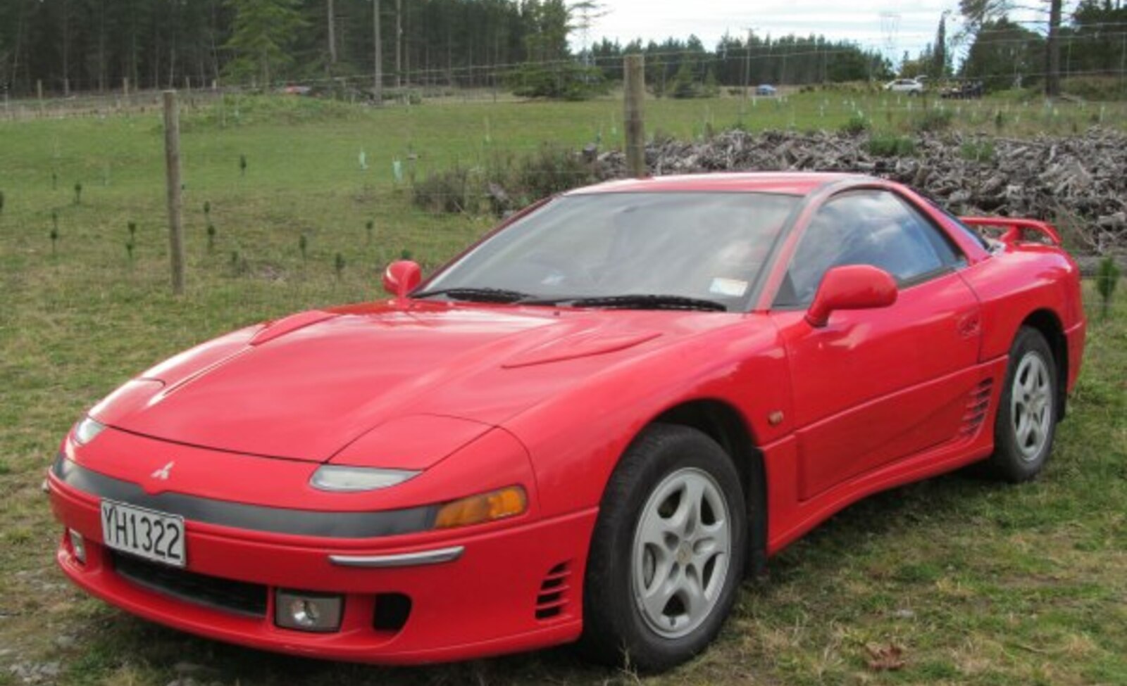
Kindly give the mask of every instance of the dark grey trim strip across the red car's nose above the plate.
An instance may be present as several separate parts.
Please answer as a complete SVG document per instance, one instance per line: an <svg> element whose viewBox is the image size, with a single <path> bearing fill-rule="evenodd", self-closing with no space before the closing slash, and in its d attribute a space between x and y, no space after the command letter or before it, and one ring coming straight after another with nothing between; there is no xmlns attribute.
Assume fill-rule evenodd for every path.
<svg viewBox="0 0 1127 686"><path fill-rule="evenodd" d="M327 513L246 505L184 493L151 495L131 481L95 472L71 462L62 454L55 457L51 472L66 485L98 498L179 515L192 522L272 534L323 538L376 538L414 534L433 528L436 514L433 506L373 513Z"/></svg>

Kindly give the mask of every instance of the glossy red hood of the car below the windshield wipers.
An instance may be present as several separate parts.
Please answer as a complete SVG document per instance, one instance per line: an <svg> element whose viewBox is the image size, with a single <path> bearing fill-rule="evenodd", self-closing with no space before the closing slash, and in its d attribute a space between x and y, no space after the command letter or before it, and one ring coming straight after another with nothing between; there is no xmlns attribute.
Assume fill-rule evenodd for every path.
<svg viewBox="0 0 1127 686"><path fill-rule="evenodd" d="M738 314L392 303L295 314L204 344L96 407L165 440L323 462L361 437L426 467L609 366ZM347 452L347 451L346 451Z"/></svg>

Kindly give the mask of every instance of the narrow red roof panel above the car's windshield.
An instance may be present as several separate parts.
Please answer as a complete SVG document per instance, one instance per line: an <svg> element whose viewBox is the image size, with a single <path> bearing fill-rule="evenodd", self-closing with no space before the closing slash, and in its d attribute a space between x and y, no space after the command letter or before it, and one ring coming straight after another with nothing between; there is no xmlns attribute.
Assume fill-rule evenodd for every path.
<svg viewBox="0 0 1127 686"><path fill-rule="evenodd" d="M818 188L853 179L858 181L875 180L855 173L824 171L743 171L721 173L687 173L676 176L646 177L640 179L620 179L576 188L566 195L588 195L598 193L677 193L677 191L717 191L717 193L779 193L806 196Z"/></svg>

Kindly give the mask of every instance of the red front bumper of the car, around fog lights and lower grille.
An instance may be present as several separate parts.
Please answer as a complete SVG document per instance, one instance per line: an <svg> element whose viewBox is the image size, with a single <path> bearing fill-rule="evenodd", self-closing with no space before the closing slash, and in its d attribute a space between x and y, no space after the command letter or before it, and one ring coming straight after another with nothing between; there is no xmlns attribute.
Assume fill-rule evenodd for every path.
<svg viewBox="0 0 1127 686"><path fill-rule="evenodd" d="M360 541L301 537L188 519L190 574L265 587L265 613L248 616L118 573L114 561L119 553L101 544L98 498L54 474L47 484L56 518L86 540L85 564L65 533L56 555L76 585L127 612L203 636L309 657L418 663L565 643L582 629L583 568L594 509L441 540L433 533ZM453 550L456 555L450 554ZM277 589L340 594L339 631L276 626ZM379 599L388 595L410 599L409 615L396 630L374 622Z"/></svg>

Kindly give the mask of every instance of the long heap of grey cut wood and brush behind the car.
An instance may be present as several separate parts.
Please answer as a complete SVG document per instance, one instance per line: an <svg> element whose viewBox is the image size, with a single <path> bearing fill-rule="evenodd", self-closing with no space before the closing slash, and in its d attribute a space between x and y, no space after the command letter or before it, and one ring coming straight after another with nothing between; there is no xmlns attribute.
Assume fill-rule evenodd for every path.
<svg viewBox="0 0 1127 686"><path fill-rule="evenodd" d="M1073 137L1031 140L957 133L915 135L914 154L881 157L867 134L752 134L658 141L646 148L654 175L709 171L850 171L907 184L957 214L1056 222L1074 249L1127 251L1127 135L1093 127ZM625 155L597 155L597 176L625 175Z"/></svg>

